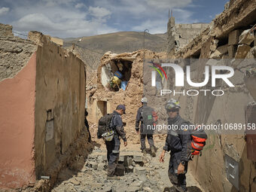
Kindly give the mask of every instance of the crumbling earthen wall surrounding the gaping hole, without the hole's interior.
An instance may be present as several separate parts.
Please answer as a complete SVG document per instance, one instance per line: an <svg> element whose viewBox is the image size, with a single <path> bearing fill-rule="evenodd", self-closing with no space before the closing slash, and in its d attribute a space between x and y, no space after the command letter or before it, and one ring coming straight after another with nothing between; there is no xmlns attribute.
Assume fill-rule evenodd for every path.
<svg viewBox="0 0 256 192"><path fill-rule="evenodd" d="M122 116L123 122L126 123L124 127L126 136L129 139L136 135L135 120L139 107L141 107L141 99L143 96L143 50L138 50L133 53L105 53L102 57L101 65L97 71L96 89L88 91L88 120L91 123L98 123L100 117L102 117L102 110L99 105L105 102L107 113L111 113L117 107L117 105L126 105L126 114ZM145 50L145 59L161 59L166 58L166 53L154 53L149 50ZM102 84L102 68L108 63L121 59L131 62L131 76L126 90L118 90L117 92L111 91L108 87L104 87ZM105 75L104 75L105 77ZM103 78L104 79L104 78Z"/></svg>

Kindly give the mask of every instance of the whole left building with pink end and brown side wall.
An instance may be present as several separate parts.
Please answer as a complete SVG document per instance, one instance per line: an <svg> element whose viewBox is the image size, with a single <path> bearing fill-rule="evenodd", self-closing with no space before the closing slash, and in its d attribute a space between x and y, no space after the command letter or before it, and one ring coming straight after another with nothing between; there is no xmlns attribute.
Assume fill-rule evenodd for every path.
<svg viewBox="0 0 256 192"><path fill-rule="evenodd" d="M59 169L90 146L84 62L40 32L25 40L12 26L0 28L0 187L47 191ZM44 184L41 176L51 179Z"/></svg>

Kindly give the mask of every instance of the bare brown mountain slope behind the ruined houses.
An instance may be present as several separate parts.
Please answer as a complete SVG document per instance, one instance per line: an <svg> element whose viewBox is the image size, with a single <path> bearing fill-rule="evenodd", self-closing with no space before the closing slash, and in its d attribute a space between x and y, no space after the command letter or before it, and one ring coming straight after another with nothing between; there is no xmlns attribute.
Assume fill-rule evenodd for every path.
<svg viewBox="0 0 256 192"><path fill-rule="evenodd" d="M81 39L81 41L79 41ZM81 38L66 38L63 47L72 48L87 63L90 69L97 69L102 55L112 53L133 52L143 48L144 32L114 32ZM167 34L145 33L145 49L155 52L166 51Z"/></svg>

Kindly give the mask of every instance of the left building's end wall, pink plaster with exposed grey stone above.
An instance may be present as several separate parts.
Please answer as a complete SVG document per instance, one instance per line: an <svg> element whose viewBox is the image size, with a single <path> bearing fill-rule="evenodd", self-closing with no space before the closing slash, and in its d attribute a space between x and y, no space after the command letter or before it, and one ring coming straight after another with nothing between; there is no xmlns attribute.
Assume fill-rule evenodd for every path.
<svg viewBox="0 0 256 192"><path fill-rule="evenodd" d="M0 28L0 187L20 187L35 182L36 45Z"/></svg>

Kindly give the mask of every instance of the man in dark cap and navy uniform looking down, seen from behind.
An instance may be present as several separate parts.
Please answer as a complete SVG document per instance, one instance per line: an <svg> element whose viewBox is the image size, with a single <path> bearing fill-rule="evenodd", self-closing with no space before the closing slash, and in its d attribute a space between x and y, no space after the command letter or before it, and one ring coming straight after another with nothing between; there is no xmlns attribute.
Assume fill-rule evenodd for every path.
<svg viewBox="0 0 256 192"><path fill-rule="evenodd" d="M114 138L108 142L105 141L107 147L107 159L108 159L108 179L109 180L119 180L116 175L114 175L115 169L117 167L117 160L119 158L120 150L120 137L123 139L123 145L126 147L126 133L123 130L123 121L121 115L125 114L125 106L118 105L116 110L113 112L113 117L111 118L111 127L114 130Z"/></svg>

